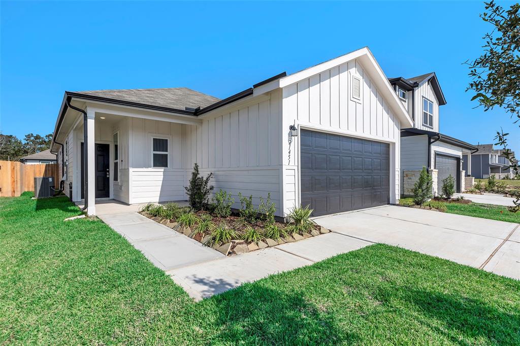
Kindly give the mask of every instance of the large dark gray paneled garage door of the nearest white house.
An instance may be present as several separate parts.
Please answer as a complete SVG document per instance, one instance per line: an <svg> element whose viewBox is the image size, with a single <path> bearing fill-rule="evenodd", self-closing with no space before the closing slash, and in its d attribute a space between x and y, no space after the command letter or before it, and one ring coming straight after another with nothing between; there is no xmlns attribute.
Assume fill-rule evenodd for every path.
<svg viewBox="0 0 520 346"><path fill-rule="evenodd" d="M302 206L313 216L368 208L389 201L389 145L301 131Z"/></svg>

